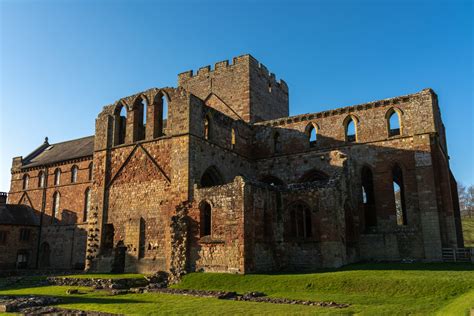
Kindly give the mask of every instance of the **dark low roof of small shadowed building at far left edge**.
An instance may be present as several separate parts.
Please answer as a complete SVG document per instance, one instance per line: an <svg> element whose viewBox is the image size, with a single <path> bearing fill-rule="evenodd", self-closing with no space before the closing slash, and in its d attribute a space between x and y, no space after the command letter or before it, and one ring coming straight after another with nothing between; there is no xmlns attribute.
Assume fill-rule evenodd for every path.
<svg viewBox="0 0 474 316"><path fill-rule="evenodd" d="M0 204L0 225L39 226L39 213L19 204Z"/></svg>

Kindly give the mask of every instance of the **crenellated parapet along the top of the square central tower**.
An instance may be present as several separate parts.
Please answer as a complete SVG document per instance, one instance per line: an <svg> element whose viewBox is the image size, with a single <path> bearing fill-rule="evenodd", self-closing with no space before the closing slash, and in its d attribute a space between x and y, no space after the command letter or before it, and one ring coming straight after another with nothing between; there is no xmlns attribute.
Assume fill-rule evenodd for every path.
<svg viewBox="0 0 474 316"><path fill-rule="evenodd" d="M212 68L211 65L207 65L199 68L196 72L193 70L182 72L178 74L178 85L181 85L191 78L206 77L214 73L225 72L247 65L250 65L251 70L257 71L261 76L265 77L273 86L288 93L288 85L286 82L283 79L277 80L274 73L271 73L265 65L260 63L250 54L234 57L232 58L232 62L229 62L229 60L216 62L214 68Z"/></svg>

